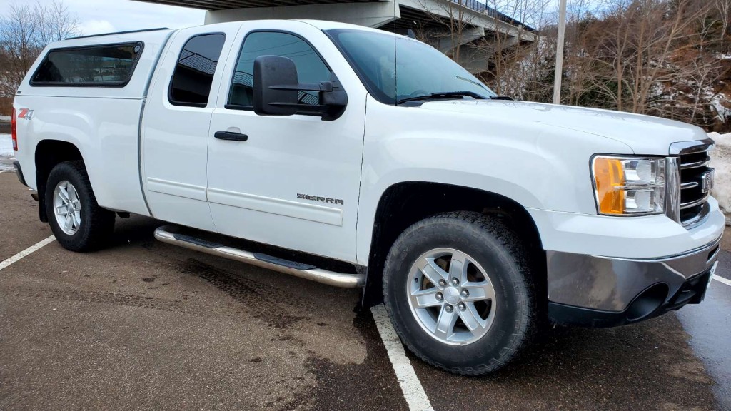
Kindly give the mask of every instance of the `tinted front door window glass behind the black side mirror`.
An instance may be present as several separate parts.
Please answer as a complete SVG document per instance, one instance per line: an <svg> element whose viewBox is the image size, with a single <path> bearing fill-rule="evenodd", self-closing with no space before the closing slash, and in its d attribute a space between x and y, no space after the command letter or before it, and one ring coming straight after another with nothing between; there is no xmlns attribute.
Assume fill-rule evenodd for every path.
<svg viewBox="0 0 731 411"><path fill-rule="evenodd" d="M254 59L259 56L284 56L295 61L300 83L319 83L330 80L327 68L319 54L303 39L293 34L257 31L246 36L234 72L229 105L251 108L254 94ZM319 104L317 91L300 91L300 102Z"/></svg>

